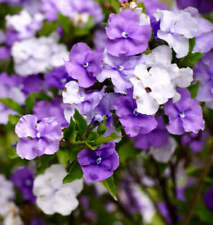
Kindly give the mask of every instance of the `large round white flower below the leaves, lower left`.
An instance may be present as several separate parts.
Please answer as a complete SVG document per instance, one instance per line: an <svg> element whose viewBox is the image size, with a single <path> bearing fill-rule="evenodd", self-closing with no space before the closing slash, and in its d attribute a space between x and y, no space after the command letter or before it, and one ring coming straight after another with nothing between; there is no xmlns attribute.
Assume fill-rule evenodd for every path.
<svg viewBox="0 0 213 225"><path fill-rule="evenodd" d="M35 178L33 192L37 197L36 203L41 210L49 215L60 213L69 215L78 206L76 196L83 188L82 180L63 184L67 175L64 167L52 165L44 174Z"/></svg>

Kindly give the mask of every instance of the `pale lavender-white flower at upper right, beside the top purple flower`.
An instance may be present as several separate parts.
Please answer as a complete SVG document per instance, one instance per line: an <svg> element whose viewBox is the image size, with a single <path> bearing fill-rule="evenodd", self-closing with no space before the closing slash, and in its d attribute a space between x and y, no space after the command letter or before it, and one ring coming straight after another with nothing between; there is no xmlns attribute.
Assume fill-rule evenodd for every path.
<svg viewBox="0 0 213 225"><path fill-rule="evenodd" d="M160 21L157 36L174 49L177 58L185 57L189 52L189 39L195 37L198 31L197 20L183 10L157 10L155 18Z"/></svg>

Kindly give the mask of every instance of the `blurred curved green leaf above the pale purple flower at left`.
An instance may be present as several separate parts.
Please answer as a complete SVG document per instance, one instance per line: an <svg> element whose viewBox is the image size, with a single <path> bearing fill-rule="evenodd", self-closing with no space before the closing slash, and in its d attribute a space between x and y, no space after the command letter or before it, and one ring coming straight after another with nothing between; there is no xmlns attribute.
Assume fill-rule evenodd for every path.
<svg viewBox="0 0 213 225"><path fill-rule="evenodd" d="M32 113L36 101L42 100L51 101L52 99L44 92L30 94L25 101L27 113Z"/></svg>

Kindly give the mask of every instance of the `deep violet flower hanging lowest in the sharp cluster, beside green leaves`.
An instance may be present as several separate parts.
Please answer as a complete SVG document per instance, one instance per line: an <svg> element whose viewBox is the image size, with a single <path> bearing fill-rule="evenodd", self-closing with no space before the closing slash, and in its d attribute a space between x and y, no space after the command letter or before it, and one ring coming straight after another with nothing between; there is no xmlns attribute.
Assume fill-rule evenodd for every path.
<svg viewBox="0 0 213 225"><path fill-rule="evenodd" d="M115 143L102 144L97 150L84 149L78 153L78 162L87 182L97 182L113 175L119 166Z"/></svg>

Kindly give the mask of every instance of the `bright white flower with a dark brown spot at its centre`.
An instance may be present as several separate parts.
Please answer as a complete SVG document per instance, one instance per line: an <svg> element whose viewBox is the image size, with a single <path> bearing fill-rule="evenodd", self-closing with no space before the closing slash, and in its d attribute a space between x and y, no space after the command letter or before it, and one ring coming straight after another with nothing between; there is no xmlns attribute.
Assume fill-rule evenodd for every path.
<svg viewBox="0 0 213 225"><path fill-rule="evenodd" d="M166 103L176 93L168 71L160 66L148 71L146 65L139 64L135 68L135 77L130 81L134 87L137 112L142 114L155 114L159 105Z"/></svg>

